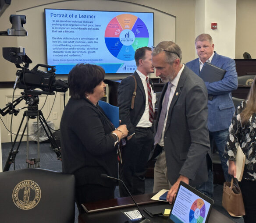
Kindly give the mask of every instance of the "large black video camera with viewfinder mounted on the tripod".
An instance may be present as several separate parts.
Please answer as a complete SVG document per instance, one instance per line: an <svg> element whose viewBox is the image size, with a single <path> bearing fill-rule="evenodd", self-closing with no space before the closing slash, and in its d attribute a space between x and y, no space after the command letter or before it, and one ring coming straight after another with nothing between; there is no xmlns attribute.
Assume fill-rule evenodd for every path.
<svg viewBox="0 0 256 223"><path fill-rule="evenodd" d="M14 89L16 86L20 89L26 90L26 92L39 92L42 94L52 95L53 92L66 92L68 90L68 83L62 80L56 80L55 78L55 66L49 66L46 64L37 64L32 70L28 69L32 60L25 54L25 48L22 47L3 47L4 59L14 63L17 68L21 68L16 72L16 80ZM20 64L23 64L21 67ZM40 71L38 67L50 68L49 71ZM35 90L36 88L41 91Z"/></svg>

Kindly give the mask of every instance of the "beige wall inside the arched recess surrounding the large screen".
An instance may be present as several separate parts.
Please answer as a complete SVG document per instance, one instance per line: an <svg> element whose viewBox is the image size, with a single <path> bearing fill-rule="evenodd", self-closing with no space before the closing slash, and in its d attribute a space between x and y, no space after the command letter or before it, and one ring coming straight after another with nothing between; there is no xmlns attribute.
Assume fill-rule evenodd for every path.
<svg viewBox="0 0 256 223"><path fill-rule="evenodd" d="M100 3L100 5L99 5ZM28 38L18 38L18 46L24 46L26 51L29 52L29 57L34 59L34 62L46 63L46 47L45 47L45 30L44 30L44 8L66 8L66 9L89 9L89 10L106 10L106 11L150 11L154 13L155 25L155 42L168 37L175 41L175 22L176 19L171 14L149 8L147 6L138 5L131 2L121 2L113 0L73 0L43 6L34 7L32 9L25 9L20 11L20 14L27 16L27 31L30 33ZM164 21L164 23L163 23ZM31 44L31 39L36 39L37 44ZM106 48L107 50L107 48ZM33 64L32 64L33 65ZM34 66L34 65L33 65ZM32 66L31 66L32 67ZM58 76L59 77L59 76ZM120 74L107 74L106 78L123 78ZM66 78L66 77L64 77Z"/></svg>

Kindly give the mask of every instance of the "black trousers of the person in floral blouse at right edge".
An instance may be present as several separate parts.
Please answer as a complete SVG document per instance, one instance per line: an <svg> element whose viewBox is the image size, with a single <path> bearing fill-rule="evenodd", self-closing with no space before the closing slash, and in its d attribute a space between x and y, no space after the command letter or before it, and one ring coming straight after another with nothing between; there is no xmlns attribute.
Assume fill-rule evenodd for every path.
<svg viewBox="0 0 256 223"><path fill-rule="evenodd" d="M246 169L245 169L246 171ZM245 205L245 223L256 221L256 181L242 179L239 182Z"/></svg>

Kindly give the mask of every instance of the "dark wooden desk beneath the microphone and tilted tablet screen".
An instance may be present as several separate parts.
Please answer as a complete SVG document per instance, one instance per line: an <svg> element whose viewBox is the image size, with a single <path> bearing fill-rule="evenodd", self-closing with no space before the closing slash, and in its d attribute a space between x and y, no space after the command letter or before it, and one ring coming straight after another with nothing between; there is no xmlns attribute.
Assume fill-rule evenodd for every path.
<svg viewBox="0 0 256 223"><path fill-rule="evenodd" d="M151 218L146 212L144 212L143 208L145 207L151 207L156 205L163 205L164 202L157 202L152 201L150 198L154 194L146 194L146 195L136 195L134 196L134 199L136 202L139 203L139 208L143 212L143 214L151 219L155 223L167 223L167 218L162 218L159 216L156 216L154 218ZM100 211L100 212L92 212L92 213L84 213L82 215L78 216L78 223L124 223L128 220L128 217L124 215L123 212L126 211L132 211L136 210L136 207L134 203L132 202L132 199L129 197L126 198L116 198L116 199L110 199L107 201L100 201L91 203L90 205L94 208L98 206L99 209L106 208L106 204L109 207L106 211ZM119 204L120 206L118 207ZM114 209L111 209L111 207L114 205ZM224 216L222 213L218 212L216 209L212 209L210 218L208 223L234 223L231 219L229 219L227 216Z"/></svg>

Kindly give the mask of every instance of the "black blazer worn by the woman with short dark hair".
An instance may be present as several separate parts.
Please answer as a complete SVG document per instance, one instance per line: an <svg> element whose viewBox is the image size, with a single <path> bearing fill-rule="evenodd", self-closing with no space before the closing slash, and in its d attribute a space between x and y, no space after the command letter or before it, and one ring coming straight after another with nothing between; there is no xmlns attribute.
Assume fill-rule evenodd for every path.
<svg viewBox="0 0 256 223"><path fill-rule="evenodd" d="M73 173L76 185L113 186L117 177L117 146L111 132L113 124L100 106L87 99L69 99L60 121L62 170Z"/></svg>

